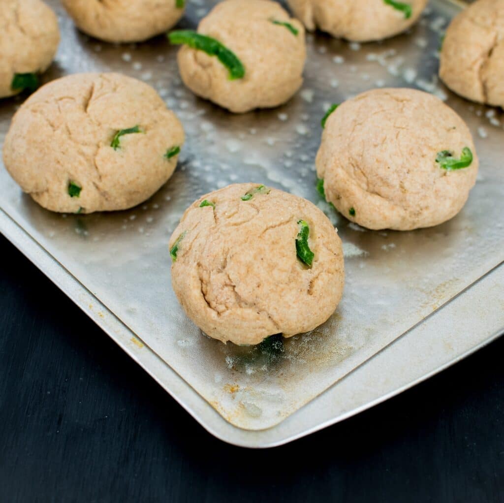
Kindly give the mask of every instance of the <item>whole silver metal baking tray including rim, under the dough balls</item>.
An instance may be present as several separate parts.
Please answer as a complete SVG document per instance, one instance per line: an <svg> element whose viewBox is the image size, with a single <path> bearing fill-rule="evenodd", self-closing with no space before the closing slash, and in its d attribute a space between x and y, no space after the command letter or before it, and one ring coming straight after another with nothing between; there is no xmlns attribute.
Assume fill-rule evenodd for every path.
<svg viewBox="0 0 504 503"><path fill-rule="evenodd" d="M153 85L187 134L173 177L129 211L59 215L0 170L0 230L204 427L247 447L291 441L372 406L475 351L504 330L504 131L500 111L450 93L437 49L458 7L431 2L408 33L356 44L309 34L303 88L273 110L232 115L186 90L164 37L111 45L75 30L55 1L62 42L45 80L116 71ZM195 27L215 2L188 4ZM327 106L373 87L416 87L469 124L481 160L456 218L413 232L367 231L321 201L314 157ZM22 98L0 102L0 145ZM347 272L334 316L273 348L204 337L170 287L167 242L183 210L232 182L282 188L337 225ZM70 335L70 334L69 334Z"/></svg>

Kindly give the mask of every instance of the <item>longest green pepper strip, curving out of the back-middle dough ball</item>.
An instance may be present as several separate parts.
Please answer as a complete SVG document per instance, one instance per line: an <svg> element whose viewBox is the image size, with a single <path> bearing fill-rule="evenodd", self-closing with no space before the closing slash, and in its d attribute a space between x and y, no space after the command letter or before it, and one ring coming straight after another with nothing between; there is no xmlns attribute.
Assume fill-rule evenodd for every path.
<svg viewBox="0 0 504 503"><path fill-rule="evenodd" d="M245 76L242 62L234 52L215 38L201 35L193 30L175 30L168 33L168 39L172 44L185 44L193 49L202 50L210 56L216 56L229 71L229 80L242 79Z"/></svg>

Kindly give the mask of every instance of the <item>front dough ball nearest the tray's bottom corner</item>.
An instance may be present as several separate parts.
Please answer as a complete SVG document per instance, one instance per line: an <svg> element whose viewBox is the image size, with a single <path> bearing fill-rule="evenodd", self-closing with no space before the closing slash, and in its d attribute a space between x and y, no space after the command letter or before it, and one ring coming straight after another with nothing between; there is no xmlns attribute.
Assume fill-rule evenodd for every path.
<svg viewBox="0 0 504 503"><path fill-rule="evenodd" d="M258 186L234 184L201 197L170 239L172 259L177 244L171 282L178 300L222 342L258 344L313 330L343 293L341 240L329 219L305 199ZM309 227L311 268L296 255L299 220Z"/></svg>

